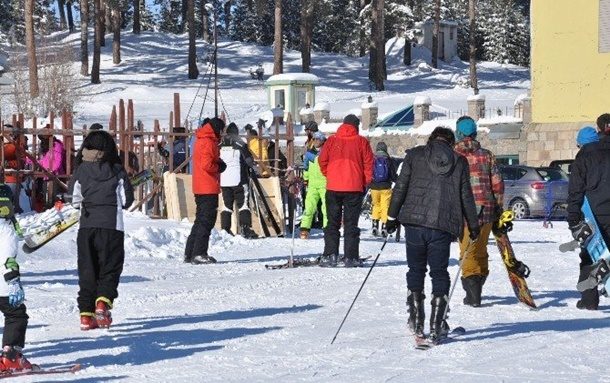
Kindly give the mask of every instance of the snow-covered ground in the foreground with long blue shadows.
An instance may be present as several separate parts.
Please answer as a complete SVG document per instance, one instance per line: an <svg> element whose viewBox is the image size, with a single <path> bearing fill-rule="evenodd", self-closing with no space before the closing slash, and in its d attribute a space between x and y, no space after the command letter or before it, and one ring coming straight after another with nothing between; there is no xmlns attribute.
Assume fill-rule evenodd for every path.
<svg viewBox="0 0 610 383"><path fill-rule="evenodd" d="M608 382L610 306L576 309L577 253L560 254L565 223L517 222L510 234L538 311L517 303L490 241L484 304L461 304L449 324L467 334L429 351L406 329L404 241L390 242L334 345L330 341L367 269L266 270L289 254L288 238L247 241L214 233L215 265L182 263L188 223L127 220L126 261L110 330L79 330L76 229L31 255L20 254L30 314L27 356L75 375L28 381L198 382ZM361 227L368 227L364 219ZM323 239L296 239L314 256ZM363 231L362 255L381 240ZM457 270L452 247L450 273ZM370 265L370 263L369 263ZM453 277L452 277L453 278ZM427 290L430 286L427 282ZM426 308L429 312L429 307Z"/></svg>

